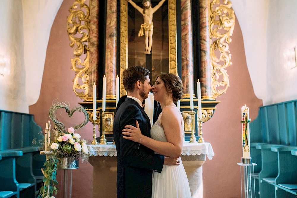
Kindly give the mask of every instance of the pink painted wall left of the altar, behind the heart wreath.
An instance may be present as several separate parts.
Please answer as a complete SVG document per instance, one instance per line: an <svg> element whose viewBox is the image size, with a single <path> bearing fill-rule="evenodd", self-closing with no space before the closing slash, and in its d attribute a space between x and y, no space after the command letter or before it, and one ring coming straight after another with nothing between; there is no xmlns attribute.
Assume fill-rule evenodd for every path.
<svg viewBox="0 0 297 198"><path fill-rule="evenodd" d="M69 103L70 109L78 106L78 102L83 101L72 91L72 79L74 79L75 73L70 69L70 59L73 58L73 48L69 46L66 24L69 15L68 9L73 2L73 0L64 0L53 22L46 52L40 97L37 103L29 106L29 113L34 114L35 121L43 130L45 123L50 120L48 110L54 100ZM66 128L75 126L84 120L82 113L78 116L74 114L70 119L65 111L61 114L59 111L57 118L65 124ZM89 122L78 133L84 139L92 140L93 125ZM72 197L91 197L93 167L88 162L80 162L79 166L79 169L72 171ZM63 175L64 172L59 170L57 181L61 194L63 194ZM61 194L58 193L57 197L63 197Z"/></svg>

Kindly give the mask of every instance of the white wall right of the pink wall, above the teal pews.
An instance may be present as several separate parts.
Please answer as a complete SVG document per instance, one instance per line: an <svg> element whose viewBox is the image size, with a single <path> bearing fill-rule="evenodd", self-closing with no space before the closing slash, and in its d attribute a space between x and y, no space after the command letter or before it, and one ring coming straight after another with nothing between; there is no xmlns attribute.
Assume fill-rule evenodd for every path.
<svg viewBox="0 0 297 198"><path fill-rule="evenodd" d="M232 4L257 98L263 105L297 99L297 67L285 68L283 56L297 45L297 1L232 0Z"/></svg>

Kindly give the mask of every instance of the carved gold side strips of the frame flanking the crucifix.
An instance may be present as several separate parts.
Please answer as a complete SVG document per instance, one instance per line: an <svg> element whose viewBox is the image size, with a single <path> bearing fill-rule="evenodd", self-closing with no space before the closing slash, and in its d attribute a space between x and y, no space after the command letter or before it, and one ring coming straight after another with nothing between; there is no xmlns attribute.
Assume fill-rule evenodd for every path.
<svg viewBox="0 0 297 198"><path fill-rule="evenodd" d="M127 95L122 74L128 68L128 2L120 0L120 97ZM169 73L177 74L176 1L168 0Z"/></svg>

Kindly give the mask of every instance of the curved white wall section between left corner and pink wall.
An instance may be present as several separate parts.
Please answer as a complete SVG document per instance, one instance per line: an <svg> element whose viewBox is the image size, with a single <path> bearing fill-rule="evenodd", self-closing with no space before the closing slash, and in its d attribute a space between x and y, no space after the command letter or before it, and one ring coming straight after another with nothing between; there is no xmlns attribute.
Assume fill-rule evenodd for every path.
<svg viewBox="0 0 297 198"><path fill-rule="evenodd" d="M50 29L62 2L63 0L22 0L28 106L35 104L39 98ZM66 22L65 19L65 32Z"/></svg>

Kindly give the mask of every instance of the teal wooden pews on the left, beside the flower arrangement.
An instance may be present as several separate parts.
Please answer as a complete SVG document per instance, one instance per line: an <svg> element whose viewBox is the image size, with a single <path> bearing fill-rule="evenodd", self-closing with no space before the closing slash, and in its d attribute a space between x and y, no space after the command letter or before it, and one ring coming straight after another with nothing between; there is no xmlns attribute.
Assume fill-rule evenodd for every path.
<svg viewBox="0 0 297 198"><path fill-rule="evenodd" d="M34 122L33 115L0 110L0 152L20 151L23 154L15 157L13 168L20 197L34 197L37 184L42 181L40 168L45 156L38 150L43 139L42 129Z"/></svg>

